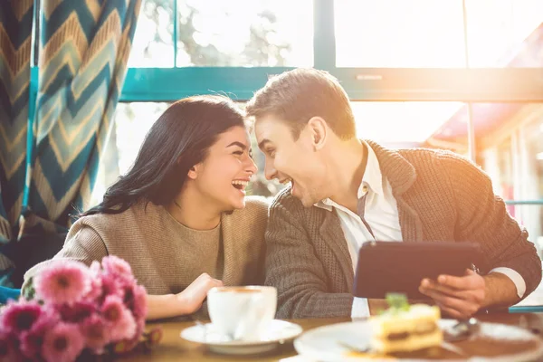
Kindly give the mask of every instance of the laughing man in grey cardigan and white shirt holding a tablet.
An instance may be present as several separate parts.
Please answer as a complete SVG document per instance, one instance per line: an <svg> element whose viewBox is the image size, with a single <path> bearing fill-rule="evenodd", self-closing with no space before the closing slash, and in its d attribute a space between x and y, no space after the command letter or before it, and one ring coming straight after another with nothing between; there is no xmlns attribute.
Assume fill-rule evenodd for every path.
<svg viewBox="0 0 543 362"><path fill-rule="evenodd" d="M266 177L291 183L271 205L266 232L278 318L367 317L377 304L354 298L352 285L358 250L372 240L480 243L483 275L421 281L419 290L453 318L510 306L538 286L536 249L490 178L452 152L357 139L348 96L327 72L272 78L247 114Z"/></svg>

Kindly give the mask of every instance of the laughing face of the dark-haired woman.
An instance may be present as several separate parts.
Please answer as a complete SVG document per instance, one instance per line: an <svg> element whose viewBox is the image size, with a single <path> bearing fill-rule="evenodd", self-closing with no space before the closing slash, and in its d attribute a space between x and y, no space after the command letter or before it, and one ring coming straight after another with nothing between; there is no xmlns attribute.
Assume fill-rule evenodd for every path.
<svg viewBox="0 0 543 362"><path fill-rule="evenodd" d="M233 127L217 138L191 178L210 202L221 211L230 211L245 207L245 187L256 170L247 130Z"/></svg>

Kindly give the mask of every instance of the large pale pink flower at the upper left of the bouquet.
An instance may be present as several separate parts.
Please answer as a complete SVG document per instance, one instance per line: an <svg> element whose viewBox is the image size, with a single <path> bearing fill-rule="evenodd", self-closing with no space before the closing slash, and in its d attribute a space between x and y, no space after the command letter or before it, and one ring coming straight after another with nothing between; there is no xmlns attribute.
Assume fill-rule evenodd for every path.
<svg viewBox="0 0 543 362"><path fill-rule="evenodd" d="M54 261L36 276L35 290L45 302L74 303L90 290L90 272L81 262Z"/></svg>

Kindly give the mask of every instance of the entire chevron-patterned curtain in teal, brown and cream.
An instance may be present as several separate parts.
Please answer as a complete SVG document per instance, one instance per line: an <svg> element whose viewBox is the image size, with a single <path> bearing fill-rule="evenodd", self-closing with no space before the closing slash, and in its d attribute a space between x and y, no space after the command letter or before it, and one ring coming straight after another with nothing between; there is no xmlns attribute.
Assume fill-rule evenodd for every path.
<svg viewBox="0 0 543 362"><path fill-rule="evenodd" d="M0 285L11 286L5 255L16 240L65 232L69 214L90 206L139 7L140 0L0 0Z"/></svg>

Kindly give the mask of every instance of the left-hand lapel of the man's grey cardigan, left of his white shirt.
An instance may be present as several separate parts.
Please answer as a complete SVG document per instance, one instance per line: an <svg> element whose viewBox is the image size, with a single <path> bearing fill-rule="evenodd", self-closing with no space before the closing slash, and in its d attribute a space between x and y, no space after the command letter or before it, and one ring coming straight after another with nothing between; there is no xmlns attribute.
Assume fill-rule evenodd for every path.
<svg viewBox="0 0 543 362"><path fill-rule="evenodd" d="M343 271L343 275L345 275L348 291L352 292L354 282L353 265L338 215L327 210L319 210L319 212L323 214L324 220L320 224L319 236L316 243L326 243L329 249L334 252L339 267Z"/></svg>

